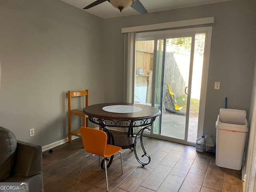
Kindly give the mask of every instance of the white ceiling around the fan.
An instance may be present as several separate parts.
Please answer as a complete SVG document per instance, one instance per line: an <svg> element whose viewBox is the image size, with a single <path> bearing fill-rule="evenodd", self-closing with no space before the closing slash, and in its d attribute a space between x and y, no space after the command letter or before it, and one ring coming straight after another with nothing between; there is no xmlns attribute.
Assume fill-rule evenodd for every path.
<svg viewBox="0 0 256 192"><path fill-rule="evenodd" d="M96 0L61 0L67 4L75 6L77 8L83 9L92 2ZM140 0L144 5L148 13L165 11L177 8L191 7L204 4L212 4L218 2L225 2L231 0ZM129 7L120 12L118 9L114 8L108 1L105 1L97 6L90 9L84 10L88 13L96 15L100 18L114 18L128 15L139 14L133 8Z"/></svg>

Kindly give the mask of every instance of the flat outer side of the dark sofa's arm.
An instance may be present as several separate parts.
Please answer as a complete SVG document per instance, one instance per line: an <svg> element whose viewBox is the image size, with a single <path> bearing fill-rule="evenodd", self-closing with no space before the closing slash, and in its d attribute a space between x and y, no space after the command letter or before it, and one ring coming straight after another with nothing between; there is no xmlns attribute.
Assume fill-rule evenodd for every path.
<svg viewBox="0 0 256 192"><path fill-rule="evenodd" d="M42 173L42 146L17 141L14 176L32 176Z"/></svg>

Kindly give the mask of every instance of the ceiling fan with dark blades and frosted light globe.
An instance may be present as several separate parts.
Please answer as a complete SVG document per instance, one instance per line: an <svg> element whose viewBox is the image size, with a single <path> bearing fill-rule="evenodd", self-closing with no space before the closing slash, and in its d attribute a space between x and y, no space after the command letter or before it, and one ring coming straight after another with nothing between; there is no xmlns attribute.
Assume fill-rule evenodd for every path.
<svg viewBox="0 0 256 192"><path fill-rule="evenodd" d="M114 6L115 8L118 8L120 12L122 12L122 10L124 10L125 8L131 6L134 10L138 11L140 14L147 13L147 10L144 8L140 0L96 0L95 2L91 3L90 5L86 6L83 9L89 9L105 1L110 2L112 6Z"/></svg>

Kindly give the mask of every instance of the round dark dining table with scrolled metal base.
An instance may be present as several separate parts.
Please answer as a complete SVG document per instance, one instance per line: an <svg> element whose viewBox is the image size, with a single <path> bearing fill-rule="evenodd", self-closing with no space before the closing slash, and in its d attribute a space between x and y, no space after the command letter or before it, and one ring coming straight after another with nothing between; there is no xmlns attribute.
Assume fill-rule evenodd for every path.
<svg viewBox="0 0 256 192"><path fill-rule="evenodd" d="M150 156L146 153L143 145L142 134L145 129L151 130L150 127L156 117L161 114L158 108L136 103L101 103L87 106L83 109L83 112L88 115L90 122L100 125L100 128L107 133L109 144L120 146L122 149L130 148L134 150L134 155L142 166L150 163ZM120 134L113 135L108 127L128 128L128 132L125 137ZM135 136L134 128L139 128ZM142 157L148 157L148 161L144 160L142 162L138 157L136 152L137 138L140 138L143 151ZM111 165L112 160L113 156L108 162L108 167Z"/></svg>

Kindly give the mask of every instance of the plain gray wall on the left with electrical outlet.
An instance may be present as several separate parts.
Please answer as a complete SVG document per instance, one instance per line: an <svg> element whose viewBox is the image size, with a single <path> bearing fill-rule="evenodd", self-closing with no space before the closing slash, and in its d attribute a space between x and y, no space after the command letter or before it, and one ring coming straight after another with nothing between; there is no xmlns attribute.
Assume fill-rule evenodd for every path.
<svg viewBox="0 0 256 192"><path fill-rule="evenodd" d="M1 0L0 126L42 146L66 138L68 90L104 102L103 42L103 19L64 2Z"/></svg>

